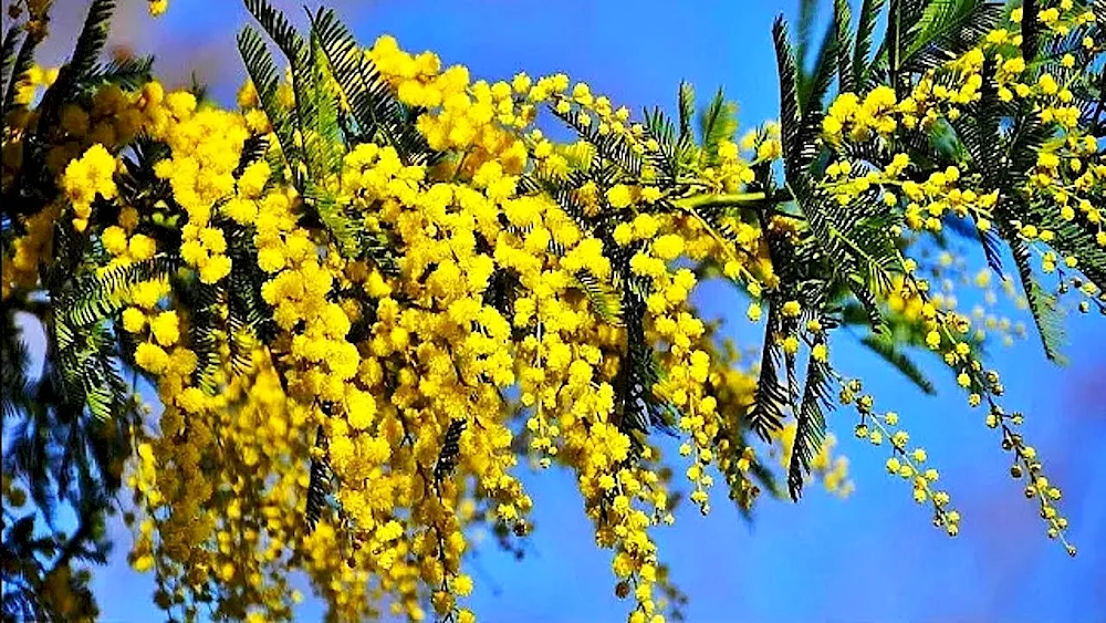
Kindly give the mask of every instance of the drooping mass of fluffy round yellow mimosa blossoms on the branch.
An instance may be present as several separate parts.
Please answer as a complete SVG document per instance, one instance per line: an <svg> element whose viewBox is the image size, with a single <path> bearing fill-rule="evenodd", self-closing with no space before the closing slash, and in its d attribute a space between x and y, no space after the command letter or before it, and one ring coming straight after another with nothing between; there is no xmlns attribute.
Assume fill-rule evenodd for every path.
<svg viewBox="0 0 1106 623"><path fill-rule="evenodd" d="M166 4L150 0L149 11ZM532 528L521 456L572 473L612 553L615 594L633 601L629 621L662 623L681 594L653 529L675 521L675 489L687 486L707 513L721 476L749 511L762 489L778 490L758 465L768 455L789 470L793 496L806 475L847 496L848 461L817 424L820 405L834 402L855 407L856 436L888 447L887 470L956 534L959 513L927 451L831 365L828 332L858 324L857 308L936 353L971 407L987 404L1012 474L1027 478L1050 537L1064 540L1060 489L979 359L992 334L1009 341L1024 325L983 305L959 311L969 283L997 303L991 273L926 247L971 219L972 237L1023 246L1021 272L1035 252L1060 289L1085 295L1081 309L1103 300L1079 277L1085 249L1061 241L1078 226L1085 247L1106 247L1096 203L1106 162L1078 123L1074 56L1056 75L1027 65L1020 19L1013 11L898 90L838 94L810 117L826 157L786 188L772 177L792 133L766 123L738 138L721 100L700 146L660 117L635 123L564 74L472 80L390 37L337 45L341 56L333 32L312 39L283 81L251 72L259 84L243 85L237 110L156 81L93 81L42 111L36 90L56 72L32 68L6 120L3 191L33 174L49 193L4 221L3 298L79 283L84 300L60 318L95 316L82 326L117 339L119 360L156 388L160 412L128 439L131 561L155 573L155 602L185 617L209 603L216 617L289 620L301 599L289 577L305 571L333 620L387 608L471 622L472 529L507 539ZM1064 0L1039 19L1067 37L1094 18ZM1082 44L1100 52L1102 42ZM343 84L349 66L371 84ZM1056 129L1034 144L1012 195L969 158L937 166L899 139L926 138L984 96ZM550 139L543 112L578 139ZM31 155L41 162L24 163ZM856 245L807 211L811 196L847 215L889 212L843 228L888 233L889 259L827 269L827 256ZM1012 197L1055 214L1011 221ZM808 253L812 240L825 249ZM59 262L59 246L80 259ZM781 256L791 251L804 266ZM747 291L745 315L768 324L759 370L697 309L692 293L713 278ZM858 301L818 294L823 285ZM1004 276L1002 288L1015 297ZM680 458L649 443L654 428L679 437ZM778 446L763 451L753 432Z"/></svg>

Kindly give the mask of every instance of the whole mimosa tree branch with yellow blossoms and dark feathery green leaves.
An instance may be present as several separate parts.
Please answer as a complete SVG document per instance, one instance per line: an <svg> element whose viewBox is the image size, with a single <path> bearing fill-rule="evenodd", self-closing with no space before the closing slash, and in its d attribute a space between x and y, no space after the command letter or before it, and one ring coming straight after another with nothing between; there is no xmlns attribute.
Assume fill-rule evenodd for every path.
<svg viewBox="0 0 1106 623"><path fill-rule="evenodd" d="M658 623L684 596L650 532L679 492L703 513L719 487L747 512L812 475L847 492L835 408L957 534L925 449L834 356L843 325L930 392L909 349L936 353L1075 553L985 362L1005 324L922 251L1012 261L1050 359L1064 299L1106 312L1102 1L836 0L812 68L780 19L779 121L742 136L721 92L635 117L563 74L363 48L330 10L298 32L265 0L222 107L101 63L112 0L39 68L50 4L13 2L2 43L6 616L95 619L83 563L123 511L175 620L290 619L303 571L330 620L470 622L467 531L515 548L541 503L521 459L575 476L629 621ZM755 361L689 301L711 279L748 294Z"/></svg>

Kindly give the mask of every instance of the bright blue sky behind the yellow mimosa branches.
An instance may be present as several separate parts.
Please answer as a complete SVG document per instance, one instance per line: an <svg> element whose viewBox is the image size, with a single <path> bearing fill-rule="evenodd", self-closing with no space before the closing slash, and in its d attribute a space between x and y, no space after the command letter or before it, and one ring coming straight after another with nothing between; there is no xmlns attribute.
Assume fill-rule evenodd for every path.
<svg viewBox="0 0 1106 623"><path fill-rule="evenodd" d="M465 63L479 77L519 70L566 72L634 111L671 108L680 80L706 100L718 86L738 100L743 127L774 116L776 83L771 22L794 13L795 0L707 1L340 1L336 7L364 43L392 33L408 50L431 49L446 63ZM60 29L86 1L58 0ZM170 0L158 21L143 0L123 4L115 40L158 54L169 81L186 68L227 100L241 76L233 35L246 23L234 0ZM276 2L286 10L294 2ZM72 10L72 14L69 13ZM71 39L69 41L72 41ZM978 258L974 258L978 261ZM977 264L978 266L978 264ZM734 319L727 332L755 345L759 328L740 319L740 298L720 288L697 293L707 316ZM1005 310L1030 322L1024 312ZM1065 491L1064 508L1079 555L1070 559L1044 536L1035 507L1008 476L999 438L970 411L937 362L927 368L941 393L927 397L888 373L846 335L835 364L866 380L877 405L894 408L912 438L929 449L963 515L962 533L935 530L902 482L886 476L883 450L852 438L853 417L831 416L839 450L852 460L856 492L839 501L811 490L800 505L766 502L752 527L714 491L712 513L682 512L658 530L661 554L690 595L688 621L706 622L1093 622L1106 620L1106 329L1100 319L1070 319L1071 365L1047 363L1033 340L997 347L1008 387L1005 404L1024 409L1025 434ZM624 620L613 594L609 555L595 548L571 477L528 478L536 500L532 555L522 563L486 550L470 601L483 621L606 622ZM104 621L157 620L152 578L123 560L128 537L95 580ZM493 584L500 590L494 591ZM317 621L317 604L300 611Z"/></svg>

